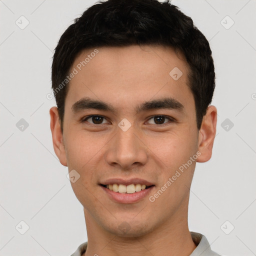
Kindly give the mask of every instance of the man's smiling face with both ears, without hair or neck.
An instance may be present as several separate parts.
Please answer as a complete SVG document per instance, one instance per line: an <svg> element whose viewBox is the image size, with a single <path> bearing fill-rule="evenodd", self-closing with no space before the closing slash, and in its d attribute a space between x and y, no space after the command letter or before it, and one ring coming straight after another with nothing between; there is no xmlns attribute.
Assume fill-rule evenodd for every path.
<svg viewBox="0 0 256 256"><path fill-rule="evenodd" d="M195 162L211 154L213 108L198 131L188 67L173 49L97 50L84 50L70 68L77 73L65 99L63 133L56 108L50 110L54 150L79 176L72 189L94 225L122 236L174 227L187 219Z"/></svg>

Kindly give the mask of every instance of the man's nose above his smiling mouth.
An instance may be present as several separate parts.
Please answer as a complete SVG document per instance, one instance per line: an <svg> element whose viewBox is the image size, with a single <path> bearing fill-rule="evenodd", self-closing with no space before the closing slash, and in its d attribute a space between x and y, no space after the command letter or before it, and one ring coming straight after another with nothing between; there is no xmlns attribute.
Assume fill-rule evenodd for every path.
<svg viewBox="0 0 256 256"><path fill-rule="evenodd" d="M117 127L116 134L109 142L106 150L108 164L128 170L146 163L148 148L133 125L126 131Z"/></svg>

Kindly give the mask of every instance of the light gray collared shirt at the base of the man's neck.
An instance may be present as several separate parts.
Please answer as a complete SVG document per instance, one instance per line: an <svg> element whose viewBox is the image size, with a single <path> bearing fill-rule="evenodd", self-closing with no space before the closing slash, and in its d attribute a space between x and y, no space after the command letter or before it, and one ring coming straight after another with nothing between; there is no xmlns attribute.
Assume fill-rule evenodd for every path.
<svg viewBox="0 0 256 256"><path fill-rule="evenodd" d="M196 248L189 256L220 256L216 252L210 249L210 245L203 234L190 232L193 242ZM78 246L76 251L71 256L81 256L87 248L87 242L84 242Z"/></svg>

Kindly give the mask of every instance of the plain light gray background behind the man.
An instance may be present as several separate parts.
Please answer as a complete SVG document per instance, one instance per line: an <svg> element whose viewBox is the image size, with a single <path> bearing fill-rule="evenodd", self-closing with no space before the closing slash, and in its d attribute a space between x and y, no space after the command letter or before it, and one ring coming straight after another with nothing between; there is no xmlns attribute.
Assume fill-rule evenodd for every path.
<svg viewBox="0 0 256 256"><path fill-rule="evenodd" d="M0 255L70 255L87 239L83 208L53 151L55 101L46 94L60 35L94 2L0 0ZM212 158L196 165L189 228L220 254L256 255L256 1L172 2L209 40L216 71L217 135ZM21 15L24 29L15 24L25 24ZM21 118L29 124L23 131ZM226 118L234 124L228 131Z"/></svg>

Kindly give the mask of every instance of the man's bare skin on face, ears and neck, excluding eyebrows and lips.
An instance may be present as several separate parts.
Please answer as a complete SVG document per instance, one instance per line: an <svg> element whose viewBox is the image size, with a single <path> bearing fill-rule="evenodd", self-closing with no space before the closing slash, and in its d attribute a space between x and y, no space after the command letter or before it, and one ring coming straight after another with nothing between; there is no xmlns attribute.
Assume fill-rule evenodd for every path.
<svg viewBox="0 0 256 256"><path fill-rule="evenodd" d="M94 49L83 50L77 63ZM195 161L154 202L148 196L136 203L117 203L99 185L107 178L138 177L151 181L153 195L196 151L197 162L210 159L216 132L216 108L209 106L200 130L196 127L193 94L188 87L188 66L182 56L164 46L100 47L99 52L69 82L65 99L63 133L58 111L50 108L53 147L68 171L80 178L72 189L84 207L88 247L84 255L189 255L194 249L187 224L189 188ZM178 67L182 76L169 72ZM82 97L110 103L115 112L85 109L72 112ZM183 104L177 109L135 113L145 100L170 96ZM88 115L101 115L101 124ZM165 115L163 124L155 115ZM126 118L131 127L118 123ZM124 233L119 227L127 222Z"/></svg>

